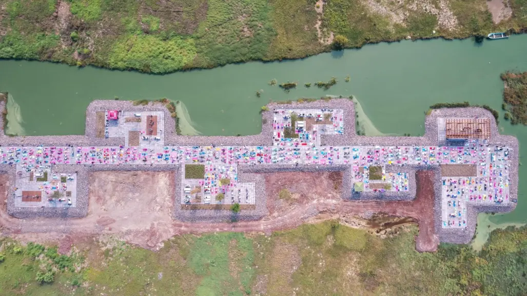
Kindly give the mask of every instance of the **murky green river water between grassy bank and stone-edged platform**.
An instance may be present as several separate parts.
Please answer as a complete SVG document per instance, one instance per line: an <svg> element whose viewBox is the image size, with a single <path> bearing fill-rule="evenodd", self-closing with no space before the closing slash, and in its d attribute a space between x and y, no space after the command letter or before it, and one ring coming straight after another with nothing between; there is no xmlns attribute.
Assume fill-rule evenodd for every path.
<svg viewBox="0 0 527 296"><path fill-rule="evenodd" d="M291 100L353 94L375 134L419 135L424 112L437 102L470 101L501 110L500 73L527 71L527 35L485 41L404 41L368 45L361 50L326 53L305 60L245 63L212 70L163 76L116 72L99 68L0 61L0 90L8 91L19 106L15 131L27 135L82 134L86 106L95 99L121 100L168 97L183 102L184 131L203 135L254 134L261 129L258 111L269 100ZM344 78L350 75L351 81ZM328 91L304 83L339 82ZM289 93L268 82L298 82ZM261 97L256 91L262 90ZM15 106L16 107L16 106ZM11 107L11 110L15 110ZM502 114L501 114L502 116ZM527 127L501 120L502 132L518 137L521 155L527 151ZM520 184L527 171L520 169ZM523 186L520 186L520 192ZM485 218L494 225L526 223L526 195L510 214ZM481 220L481 219L480 219ZM482 220L483 221L483 220Z"/></svg>

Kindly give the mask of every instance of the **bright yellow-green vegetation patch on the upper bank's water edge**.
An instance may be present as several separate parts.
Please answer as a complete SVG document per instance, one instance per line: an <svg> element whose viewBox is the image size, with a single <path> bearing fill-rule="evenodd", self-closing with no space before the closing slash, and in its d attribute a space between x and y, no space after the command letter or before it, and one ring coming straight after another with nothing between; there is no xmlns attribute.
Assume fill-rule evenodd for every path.
<svg viewBox="0 0 527 296"><path fill-rule="evenodd" d="M167 73L182 70L193 61L196 47L192 38L132 35L116 42L109 56L111 68Z"/></svg>

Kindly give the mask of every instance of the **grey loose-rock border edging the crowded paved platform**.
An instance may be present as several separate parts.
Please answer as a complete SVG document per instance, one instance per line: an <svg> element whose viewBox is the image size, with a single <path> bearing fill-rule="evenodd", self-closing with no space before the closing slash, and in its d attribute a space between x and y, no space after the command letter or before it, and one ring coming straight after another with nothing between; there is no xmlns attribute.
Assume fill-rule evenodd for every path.
<svg viewBox="0 0 527 296"><path fill-rule="evenodd" d="M423 136L359 136L355 133L355 108L352 100L347 98L335 98L330 101L318 100L310 103L292 102L291 104L268 105L269 111L262 112L262 131L257 135L249 136L184 136L175 133L175 121L170 120L171 114L162 103L151 102L148 105L134 106L129 101L93 101L86 111L85 135L65 136L6 136L3 132L3 124L0 124L0 145L3 146L110 146L124 145L124 139L112 138L102 139L95 137L97 111L126 110L126 111L162 111L164 112L164 143L167 146L264 146L272 145L272 122L273 112L278 109L309 109L326 108L344 110L344 134L343 135L321 135L321 144L326 146L348 145L348 146L435 146L438 144L437 119L440 117L487 117L491 119L491 140L489 145L503 145L512 148L512 159L518 160L518 140L513 136L500 135L494 117L489 111L479 107L467 108L445 108L433 110L426 116L425 135ZM4 110L5 102L0 103L0 109ZM239 181L253 182L256 184L256 209L242 210L235 214L229 210L181 210L181 165L55 165L54 172L77 173L77 206L76 208L15 208L13 191L9 191L7 199L8 213L17 218L80 218L87 214L88 206L88 174L92 171L174 171L174 219L189 222L226 222L239 220L258 220L268 214L266 207L265 179L261 173L269 172L319 172L319 171L343 171L344 179L341 188L343 198L354 201L397 201L412 200L415 198L415 172L419 170L433 170L435 172L435 204L434 219L435 230L440 240L452 243L467 243L471 240L476 223L476 215L479 212L508 212L512 211L516 204L490 204L469 205L467 227L465 229L443 229L441 225L441 170L435 166L386 166L388 172L406 172L409 174L408 192L367 192L353 193L353 172L351 165L239 165ZM15 168L9 165L0 165L0 171L7 173L11 184L14 184ZM513 161L510 168L511 196L517 198L518 193L518 161ZM310 214L317 214L316 210ZM371 213L370 213L371 214Z"/></svg>

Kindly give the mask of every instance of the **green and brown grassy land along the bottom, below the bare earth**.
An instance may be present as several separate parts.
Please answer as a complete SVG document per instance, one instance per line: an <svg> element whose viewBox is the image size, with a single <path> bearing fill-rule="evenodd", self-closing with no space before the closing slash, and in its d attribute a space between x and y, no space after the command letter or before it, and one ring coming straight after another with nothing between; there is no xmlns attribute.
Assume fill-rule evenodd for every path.
<svg viewBox="0 0 527 296"><path fill-rule="evenodd" d="M415 251L415 226L390 238L335 222L290 231L175 236L159 252L118 241L83 252L3 239L2 295L519 295L527 230L493 231L483 251L442 244ZM0 256L1 258L1 256ZM84 259L86 258L86 259ZM51 270L51 271L49 271ZM37 273L53 273L38 283Z"/></svg>

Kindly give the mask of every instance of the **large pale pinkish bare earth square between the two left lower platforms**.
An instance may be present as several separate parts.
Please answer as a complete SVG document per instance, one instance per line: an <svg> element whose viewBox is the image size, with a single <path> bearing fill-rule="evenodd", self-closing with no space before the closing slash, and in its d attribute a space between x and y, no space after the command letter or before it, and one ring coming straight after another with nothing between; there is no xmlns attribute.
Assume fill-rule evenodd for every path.
<svg viewBox="0 0 527 296"><path fill-rule="evenodd" d="M149 248L172 236L173 172L93 172L90 181L86 219Z"/></svg>

